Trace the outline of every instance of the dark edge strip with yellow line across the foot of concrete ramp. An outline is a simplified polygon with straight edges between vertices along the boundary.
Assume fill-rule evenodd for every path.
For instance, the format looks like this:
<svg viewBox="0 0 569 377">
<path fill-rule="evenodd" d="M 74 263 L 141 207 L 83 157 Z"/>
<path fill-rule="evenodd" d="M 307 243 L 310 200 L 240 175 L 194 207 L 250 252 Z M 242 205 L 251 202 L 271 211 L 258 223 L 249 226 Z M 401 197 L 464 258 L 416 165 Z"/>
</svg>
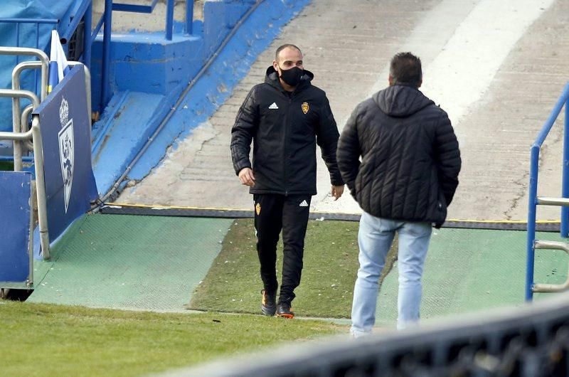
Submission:
<svg viewBox="0 0 569 377">
<path fill-rule="evenodd" d="M 253 218 L 253 211 L 232 210 L 223 208 L 180 208 L 161 206 L 125 206 L 108 204 L 100 207 L 100 213 L 109 215 L 139 215 L 139 216 L 176 216 L 176 217 L 206 217 L 206 218 Z M 324 213 L 311 212 L 310 219 L 317 221 L 359 221 L 356 213 Z M 519 221 L 468 221 L 448 220 L 442 228 L 484 229 L 484 230 L 526 230 L 527 224 Z M 539 232 L 558 232 L 560 223 L 547 221 L 538 222 Z"/>
</svg>

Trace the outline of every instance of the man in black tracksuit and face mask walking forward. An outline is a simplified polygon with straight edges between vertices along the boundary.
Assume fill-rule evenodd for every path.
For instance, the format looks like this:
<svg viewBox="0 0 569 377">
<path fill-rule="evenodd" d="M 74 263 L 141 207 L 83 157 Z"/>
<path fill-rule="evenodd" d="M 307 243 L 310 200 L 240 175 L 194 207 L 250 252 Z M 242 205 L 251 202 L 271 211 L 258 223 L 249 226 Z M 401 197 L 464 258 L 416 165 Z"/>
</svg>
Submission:
<svg viewBox="0 0 569 377">
<path fill-rule="evenodd" d="M 339 133 L 324 91 L 310 82 L 297 46 L 277 49 L 265 83 L 255 85 L 231 131 L 235 174 L 250 186 L 262 291 L 262 313 L 292 318 L 290 303 L 300 283 L 310 199 L 316 191 L 316 144 L 330 172 L 334 199 L 344 191 L 336 164 Z M 249 159 L 253 142 L 253 163 Z M 285 245 L 277 304 L 277 242 Z"/>
</svg>

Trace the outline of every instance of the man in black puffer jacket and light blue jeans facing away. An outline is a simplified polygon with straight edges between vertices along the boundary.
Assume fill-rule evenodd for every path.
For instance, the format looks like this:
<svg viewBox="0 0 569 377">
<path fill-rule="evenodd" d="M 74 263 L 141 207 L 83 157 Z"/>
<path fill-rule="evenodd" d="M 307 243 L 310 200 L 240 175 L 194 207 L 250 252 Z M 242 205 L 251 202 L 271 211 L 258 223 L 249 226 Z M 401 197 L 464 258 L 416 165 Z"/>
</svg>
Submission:
<svg viewBox="0 0 569 377">
<path fill-rule="evenodd" d="M 457 137 L 447 113 L 418 90 L 421 83 L 420 59 L 395 55 L 389 87 L 356 107 L 339 139 L 342 178 L 363 209 L 351 313 L 354 337 L 370 334 L 375 324 L 378 280 L 395 233 L 398 329 L 418 322 L 432 225 L 440 228 L 445 222 L 458 186 Z"/>
</svg>

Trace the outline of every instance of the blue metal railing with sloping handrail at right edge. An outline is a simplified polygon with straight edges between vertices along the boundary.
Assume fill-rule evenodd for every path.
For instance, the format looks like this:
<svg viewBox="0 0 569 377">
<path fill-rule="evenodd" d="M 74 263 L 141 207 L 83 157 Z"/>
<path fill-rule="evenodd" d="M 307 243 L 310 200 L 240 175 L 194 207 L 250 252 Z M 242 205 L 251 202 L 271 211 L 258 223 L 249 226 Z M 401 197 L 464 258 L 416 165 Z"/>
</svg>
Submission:
<svg viewBox="0 0 569 377">
<path fill-rule="evenodd" d="M 530 169 L 529 169 L 529 193 L 528 193 L 528 235 L 527 235 L 527 264 L 526 264 L 526 301 L 533 298 L 533 262 L 535 258 L 536 246 L 536 210 L 540 200 L 537 196 L 538 191 L 538 169 L 539 169 L 539 152 L 541 145 L 545 141 L 551 127 L 557 120 L 561 110 L 565 106 L 565 124 L 563 137 L 563 181 L 561 195 L 563 198 L 569 198 L 569 83 L 563 88 L 555 107 L 551 111 L 548 119 L 541 128 L 536 140 L 531 146 Z M 559 201 L 559 200 L 558 200 Z M 561 208 L 561 237 L 569 235 L 569 208 L 563 204 Z"/>
</svg>

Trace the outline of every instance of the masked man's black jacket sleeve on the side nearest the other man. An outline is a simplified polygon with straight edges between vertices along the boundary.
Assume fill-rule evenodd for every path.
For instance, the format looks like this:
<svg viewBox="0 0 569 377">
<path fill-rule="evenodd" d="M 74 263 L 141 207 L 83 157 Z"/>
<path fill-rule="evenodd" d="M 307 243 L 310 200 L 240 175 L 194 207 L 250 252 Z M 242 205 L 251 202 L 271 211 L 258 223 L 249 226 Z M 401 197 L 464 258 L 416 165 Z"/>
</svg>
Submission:
<svg viewBox="0 0 569 377">
<path fill-rule="evenodd" d="M 316 142 L 320 146 L 322 159 L 330 173 L 330 181 L 334 186 L 344 186 L 338 164 L 336 162 L 336 148 L 338 147 L 338 127 L 332 115 L 328 98 L 324 95 L 324 105 L 319 112 L 319 121 L 316 129 Z"/>
</svg>

